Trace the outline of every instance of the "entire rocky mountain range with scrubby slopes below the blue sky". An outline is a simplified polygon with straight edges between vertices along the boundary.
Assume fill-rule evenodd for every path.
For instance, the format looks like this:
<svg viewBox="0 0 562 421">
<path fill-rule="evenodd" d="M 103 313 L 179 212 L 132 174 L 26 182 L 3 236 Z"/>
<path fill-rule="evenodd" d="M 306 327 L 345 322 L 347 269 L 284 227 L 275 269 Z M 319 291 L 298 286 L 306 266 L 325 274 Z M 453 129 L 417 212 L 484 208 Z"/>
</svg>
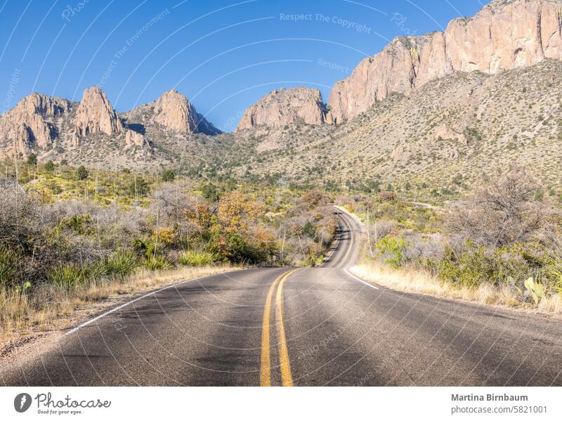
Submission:
<svg viewBox="0 0 562 421">
<path fill-rule="evenodd" d="M 495 0 L 443 33 L 395 39 L 328 105 L 318 89 L 275 90 L 222 134 L 175 90 L 124 113 L 98 88 L 80 103 L 33 93 L 0 117 L 0 153 L 436 191 L 516 164 L 562 189 L 561 60 L 562 0 Z"/>
</svg>

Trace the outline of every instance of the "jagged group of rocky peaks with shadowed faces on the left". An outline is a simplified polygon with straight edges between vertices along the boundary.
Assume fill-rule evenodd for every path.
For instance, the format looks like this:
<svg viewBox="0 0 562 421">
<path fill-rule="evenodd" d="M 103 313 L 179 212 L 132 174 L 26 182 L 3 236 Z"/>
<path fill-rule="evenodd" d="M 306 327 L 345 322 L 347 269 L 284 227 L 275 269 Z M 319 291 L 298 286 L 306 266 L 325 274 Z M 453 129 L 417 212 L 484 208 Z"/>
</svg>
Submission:
<svg viewBox="0 0 562 421">
<path fill-rule="evenodd" d="M 0 156 L 34 152 L 41 160 L 154 168 L 177 160 L 200 134 L 220 131 L 178 91 L 118 113 L 94 86 L 79 103 L 42 93 L 22 98 L 0 116 Z"/>
</svg>

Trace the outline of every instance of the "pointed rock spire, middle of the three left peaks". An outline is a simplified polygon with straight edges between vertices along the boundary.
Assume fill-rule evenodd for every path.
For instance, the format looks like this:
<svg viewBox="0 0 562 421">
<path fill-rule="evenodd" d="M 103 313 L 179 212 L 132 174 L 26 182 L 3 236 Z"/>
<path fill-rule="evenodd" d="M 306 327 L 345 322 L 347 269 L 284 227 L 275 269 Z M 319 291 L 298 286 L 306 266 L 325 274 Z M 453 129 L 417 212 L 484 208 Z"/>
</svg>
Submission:
<svg viewBox="0 0 562 421">
<path fill-rule="evenodd" d="M 113 109 L 105 93 L 98 86 L 93 86 L 84 91 L 73 124 L 79 136 L 96 132 L 113 134 L 123 131 L 121 119 L 117 116 L 117 112 Z"/>
</svg>

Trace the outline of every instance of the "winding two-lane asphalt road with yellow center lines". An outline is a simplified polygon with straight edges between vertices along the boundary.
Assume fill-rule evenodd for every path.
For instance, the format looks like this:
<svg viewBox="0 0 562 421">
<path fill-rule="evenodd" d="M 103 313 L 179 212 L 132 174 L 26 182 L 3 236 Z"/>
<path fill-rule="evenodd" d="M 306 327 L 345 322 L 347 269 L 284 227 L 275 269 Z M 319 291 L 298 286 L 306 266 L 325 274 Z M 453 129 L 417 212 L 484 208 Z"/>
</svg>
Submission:
<svg viewBox="0 0 562 421">
<path fill-rule="evenodd" d="M 74 328 L 6 385 L 562 385 L 562 323 L 354 278 L 360 226 L 339 213 L 315 268 L 191 280 Z"/>
</svg>

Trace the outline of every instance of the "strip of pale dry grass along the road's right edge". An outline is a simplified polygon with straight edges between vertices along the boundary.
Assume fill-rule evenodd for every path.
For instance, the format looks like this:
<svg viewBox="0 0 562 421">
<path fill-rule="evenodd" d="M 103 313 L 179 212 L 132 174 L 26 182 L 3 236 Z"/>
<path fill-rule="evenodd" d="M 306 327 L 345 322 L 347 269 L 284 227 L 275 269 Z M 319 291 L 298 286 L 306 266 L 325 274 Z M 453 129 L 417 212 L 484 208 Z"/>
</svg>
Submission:
<svg viewBox="0 0 562 421">
<path fill-rule="evenodd" d="M 377 263 L 362 263 L 351 268 L 351 272 L 364 280 L 377 283 L 393 290 L 416 292 L 449 299 L 462 299 L 478 304 L 499 304 L 502 306 L 532 309 L 532 304 L 521 302 L 516 293 L 507 285 L 495 287 L 483 284 L 477 289 L 468 287 L 454 287 L 442 283 L 431 273 L 417 271 L 412 268 L 394 270 Z M 556 294 L 542 299 L 537 307 L 541 313 L 562 315 L 562 297 Z"/>
</svg>

